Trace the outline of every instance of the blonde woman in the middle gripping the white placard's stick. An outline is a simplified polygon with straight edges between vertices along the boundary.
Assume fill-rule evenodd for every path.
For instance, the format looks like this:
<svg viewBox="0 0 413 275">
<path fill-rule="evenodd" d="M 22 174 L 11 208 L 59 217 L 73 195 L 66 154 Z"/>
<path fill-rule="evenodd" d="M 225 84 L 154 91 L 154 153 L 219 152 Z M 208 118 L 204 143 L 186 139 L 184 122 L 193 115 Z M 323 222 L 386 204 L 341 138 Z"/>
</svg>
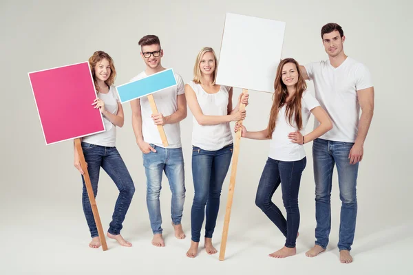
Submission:
<svg viewBox="0 0 413 275">
<path fill-rule="evenodd" d="M 222 184 L 233 153 L 233 137 L 229 122 L 244 120 L 240 102 L 248 104 L 248 96 L 238 98 L 233 108 L 232 87 L 215 84 L 217 58 L 211 47 L 199 52 L 193 69 L 193 81 L 185 85 L 185 96 L 193 114 L 192 176 L 195 196 L 191 208 L 190 258 L 198 254 L 200 232 L 204 217 L 205 249 L 208 254 L 217 250 L 212 245 Z"/>
</svg>

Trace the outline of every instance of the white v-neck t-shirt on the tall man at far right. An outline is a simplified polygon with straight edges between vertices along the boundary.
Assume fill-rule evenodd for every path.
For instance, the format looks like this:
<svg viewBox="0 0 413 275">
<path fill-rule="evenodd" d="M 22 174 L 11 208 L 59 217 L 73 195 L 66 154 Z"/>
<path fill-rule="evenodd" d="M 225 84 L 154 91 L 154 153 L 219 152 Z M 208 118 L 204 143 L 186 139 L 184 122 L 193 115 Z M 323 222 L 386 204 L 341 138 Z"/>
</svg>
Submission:
<svg viewBox="0 0 413 275">
<path fill-rule="evenodd" d="M 363 64 L 347 57 L 337 68 L 330 61 L 305 66 L 308 78 L 313 80 L 315 98 L 332 120 L 332 129 L 321 135 L 324 140 L 355 142 L 360 116 L 357 91 L 373 86 L 370 72 Z M 315 121 L 315 127 L 319 125 Z"/>
</svg>

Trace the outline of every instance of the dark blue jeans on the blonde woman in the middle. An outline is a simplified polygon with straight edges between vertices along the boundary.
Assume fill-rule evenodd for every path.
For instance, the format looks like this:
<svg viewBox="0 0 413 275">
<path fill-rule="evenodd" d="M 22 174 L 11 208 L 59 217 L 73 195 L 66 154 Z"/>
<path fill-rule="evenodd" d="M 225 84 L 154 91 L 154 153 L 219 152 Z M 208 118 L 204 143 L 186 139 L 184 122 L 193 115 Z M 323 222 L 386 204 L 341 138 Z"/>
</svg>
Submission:
<svg viewBox="0 0 413 275">
<path fill-rule="evenodd" d="M 232 153 L 233 144 L 217 151 L 206 151 L 193 146 L 192 177 L 195 195 L 191 208 L 191 239 L 196 243 L 200 241 L 205 212 L 205 237 L 212 238 L 220 209 L 222 184 L 231 163 Z"/>
</svg>

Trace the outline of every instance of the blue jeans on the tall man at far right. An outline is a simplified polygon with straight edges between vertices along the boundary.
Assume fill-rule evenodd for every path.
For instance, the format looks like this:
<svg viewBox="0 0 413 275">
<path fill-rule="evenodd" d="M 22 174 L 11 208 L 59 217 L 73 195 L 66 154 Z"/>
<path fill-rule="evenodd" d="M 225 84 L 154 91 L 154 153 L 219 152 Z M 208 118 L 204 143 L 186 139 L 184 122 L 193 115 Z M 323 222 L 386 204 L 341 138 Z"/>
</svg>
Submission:
<svg viewBox="0 0 413 275">
<path fill-rule="evenodd" d="M 348 155 L 354 143 L 317 139 L 313 143 L 315 177 L 315 244 L 326 248 L 331 229 L 332 171 L 337 164 L 341 199 L 339 250 L 351 250 L 357 217 L 357 173 L 359 163 L 350 164 Z"/>
</svg>

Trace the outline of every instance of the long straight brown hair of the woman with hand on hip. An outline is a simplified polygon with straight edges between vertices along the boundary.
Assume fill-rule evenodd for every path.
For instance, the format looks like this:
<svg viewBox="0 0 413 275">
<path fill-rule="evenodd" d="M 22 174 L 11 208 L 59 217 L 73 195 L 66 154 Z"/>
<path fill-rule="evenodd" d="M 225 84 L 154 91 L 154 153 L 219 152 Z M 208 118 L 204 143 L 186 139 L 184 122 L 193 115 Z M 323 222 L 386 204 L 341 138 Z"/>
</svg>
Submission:
<svg viewBox="0 0 413 275">
<path fill-rule="evenodd" d="M 298 73 L 298 81 L 295 84 L 295 93 L 293 94 L 291 99 L 288 100 L 288 102 L 286 102 L 286 99 L 288 98 L 287 87 L 282 82 L 282 68 L 287 63 L 295 64 L 295 67 L 297 67 L 297 73 Z M 268 122 L 268 127 L 267 127 L 268 138 L 271 139 L 273 135 L 279 110 L 284 106 L 284 104 L 286 104 L 286 121 L 290 125 L 293 125 L 293 121 L 294 121 L 298 130 L 301 130 L 301 128 L 303 127 L 303 120 L 302 120 L 302 115 L 301 115 L 301 96 L 303 95 L 303 92 L 306 89 L 307 89 L 306 80 L 304 80 L 303 76 L 301 75 L 298 62 L 295 61 L 295 59 L 293 58 L 283 59 L 278 65 L 277 75 L 275 76 L 275 81 L 274 81 L 275 92 L 273 94 L 273 106 L 271 107 L 270 120 Z"/>
</svg>

